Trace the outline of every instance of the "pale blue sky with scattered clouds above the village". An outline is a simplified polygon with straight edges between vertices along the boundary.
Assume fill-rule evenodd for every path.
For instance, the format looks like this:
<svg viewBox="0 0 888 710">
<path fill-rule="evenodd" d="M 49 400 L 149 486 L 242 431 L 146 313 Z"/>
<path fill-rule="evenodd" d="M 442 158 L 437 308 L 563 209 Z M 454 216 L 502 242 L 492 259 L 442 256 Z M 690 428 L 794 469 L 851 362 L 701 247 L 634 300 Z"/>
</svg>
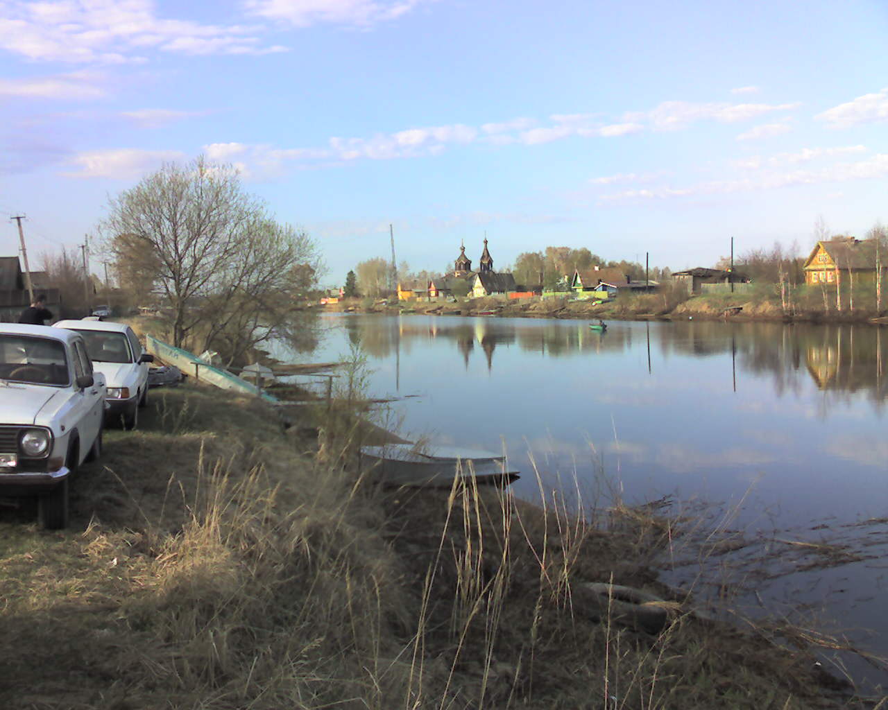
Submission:
<svg viewBox="0 0 888 710">
<path fill-rule="evenodd" d="M 888 221 L 886 37 L 861 0 L 0 0 L 0 217 L 39 260 L 205 154 L 312 234 L 329 284 L 389 224 L 429 270 L 485 232 L 497 268 L 804 249 L 818 216 Z"/>
</svg>

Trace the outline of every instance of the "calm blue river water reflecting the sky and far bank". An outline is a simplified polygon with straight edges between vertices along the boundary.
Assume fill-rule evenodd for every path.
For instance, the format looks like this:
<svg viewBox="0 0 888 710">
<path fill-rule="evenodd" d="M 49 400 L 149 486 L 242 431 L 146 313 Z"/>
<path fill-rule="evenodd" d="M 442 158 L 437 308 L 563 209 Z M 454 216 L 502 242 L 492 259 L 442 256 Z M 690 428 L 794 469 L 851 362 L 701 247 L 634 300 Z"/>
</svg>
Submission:
<svg viewBox="0 0 888 710">
<path fill-rule="evenodd" d="M 611 321 L 599 334 L 583 320 L 323 319 L 312 359 L 360 344 L 373 396 L 411 396 L 392 404 L 402 431 L 504 448 L 525 472 L 532 455 L 548 483 L 575 475 L 587 498 L 602 491 L 602 472 L 629 502 L 730 506 L 746 496 L 734 526 L 795 540 L 820 539 L 823 523 L 852 531 L 888 517 L 888 330 Z M 515 490 L 538 499 L 533 476 Z M 875 628 L 853 636 L 885 653 L 884 572 L 884 559 L 868 559 L 757 591 L 768 604 L 816 600 L 843 627 Z"/>
</svg>

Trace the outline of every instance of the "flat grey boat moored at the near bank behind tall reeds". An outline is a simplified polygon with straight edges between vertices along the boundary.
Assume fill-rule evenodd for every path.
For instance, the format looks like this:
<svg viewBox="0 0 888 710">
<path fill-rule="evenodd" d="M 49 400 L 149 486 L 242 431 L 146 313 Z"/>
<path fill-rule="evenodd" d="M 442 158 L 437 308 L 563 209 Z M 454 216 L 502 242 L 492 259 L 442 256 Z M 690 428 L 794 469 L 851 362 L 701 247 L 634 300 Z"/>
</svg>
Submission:
<svg viewBox="0 0 888 710">
<path fill-rule="evenodd" d="M 386 485 L 449 488 L 455 479 L 478 485 L 508 485 L 519 477 L 505 456 L 488 451 L 416 444 L 362 446 L 361 469 Z"/>
</svg>

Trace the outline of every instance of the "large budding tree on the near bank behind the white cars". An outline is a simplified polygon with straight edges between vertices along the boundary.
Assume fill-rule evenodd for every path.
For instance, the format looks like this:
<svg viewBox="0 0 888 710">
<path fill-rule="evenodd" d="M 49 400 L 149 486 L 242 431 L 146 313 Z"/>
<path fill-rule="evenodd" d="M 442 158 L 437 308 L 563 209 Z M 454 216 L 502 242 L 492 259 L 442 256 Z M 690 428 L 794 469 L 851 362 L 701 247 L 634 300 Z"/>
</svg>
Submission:
<svg viewBox="0 0 888 710">
<path fill-rule="evenodd" d="M 286 310 L 275 304 L 311 286 L 320 267 L 305 233 L 276 224 L 233 168 L 202 157 L 164 165 L 112 198 L 102 227 L 118 272 L 153 273 L 176 346 L 199 324 L 204 345 L 245 328 L 235 347 L 242 353 L 241 339 L 273 328 Z"/>
</svg>

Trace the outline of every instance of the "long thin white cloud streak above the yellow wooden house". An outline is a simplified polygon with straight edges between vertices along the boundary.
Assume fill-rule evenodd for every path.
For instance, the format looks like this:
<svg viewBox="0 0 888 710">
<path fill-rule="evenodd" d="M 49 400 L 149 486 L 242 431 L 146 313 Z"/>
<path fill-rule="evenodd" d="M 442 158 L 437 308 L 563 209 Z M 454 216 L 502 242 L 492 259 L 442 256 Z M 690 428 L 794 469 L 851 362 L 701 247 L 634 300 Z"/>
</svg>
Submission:
<svg viewBox="0 0 888 710">
<path fill-rule="evenodd" d="M 792 170 L 768 172 L 756 177 L 737 180 L 713 180 L 687 187 L 655 187 L 646 190 L 627 190 L 599 197 L 601 202 L 625 202 L 697 195 L 746 193 L 773 190 L 796 185 L 819 185 L 888 176 L 888 154 L 876 154 L 864 161 L 841 162 L 820 170 Z"/>
</svg>

